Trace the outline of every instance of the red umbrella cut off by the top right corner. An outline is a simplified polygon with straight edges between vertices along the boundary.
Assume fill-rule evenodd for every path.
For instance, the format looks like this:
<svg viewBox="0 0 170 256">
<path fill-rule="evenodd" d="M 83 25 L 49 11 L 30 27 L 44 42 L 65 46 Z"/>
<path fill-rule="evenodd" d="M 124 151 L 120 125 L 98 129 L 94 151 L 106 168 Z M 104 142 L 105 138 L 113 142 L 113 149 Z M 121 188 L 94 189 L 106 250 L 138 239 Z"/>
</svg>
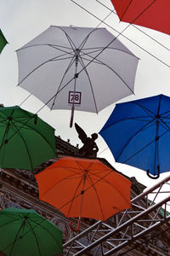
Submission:
<svg viewBox="0 0 170 256">
<path fill-rule="evenodd" d="M 121 21 L 170 34 L 169 0 L 111 0 Z"/>
</svg>

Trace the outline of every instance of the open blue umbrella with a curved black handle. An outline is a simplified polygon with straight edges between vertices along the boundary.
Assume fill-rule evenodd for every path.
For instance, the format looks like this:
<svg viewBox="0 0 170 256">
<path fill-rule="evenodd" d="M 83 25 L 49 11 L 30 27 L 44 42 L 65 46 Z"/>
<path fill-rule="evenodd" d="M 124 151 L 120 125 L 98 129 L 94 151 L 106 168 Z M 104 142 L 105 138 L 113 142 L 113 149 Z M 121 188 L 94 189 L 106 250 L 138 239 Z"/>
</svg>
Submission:
<svg viewBox="0 0 170 256">
<path fill-rule="evenodd" d="M 99 134 L 115 160 L 157 178 L 170 171 L 170 97 L 116 104 Z"/>
</svg>

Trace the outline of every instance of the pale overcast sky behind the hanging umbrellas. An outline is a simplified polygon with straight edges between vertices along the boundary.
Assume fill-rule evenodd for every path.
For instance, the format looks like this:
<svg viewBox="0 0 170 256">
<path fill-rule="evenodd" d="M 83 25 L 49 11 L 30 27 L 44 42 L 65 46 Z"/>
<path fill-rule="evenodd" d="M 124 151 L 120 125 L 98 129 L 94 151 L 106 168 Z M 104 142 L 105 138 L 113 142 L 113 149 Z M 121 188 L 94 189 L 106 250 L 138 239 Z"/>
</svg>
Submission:
<svg viewBox="0 0 170 256">
<path fill-rule="evenodd" d="M 101 20 L 104 20 L 105 17 L 111 13 L 110 10 L 105 9 L 105 7 L 96 0 L 75 0 L 75 2 L 80 4 L 83 8 L 88 9 Z M 100 0 L 100 2 L 105 3 L 107 7 L 113 9 L 111 0 Z M 8 44 L 0 55 L 0 102 L 3 102 L 5 106 L 20 105 L 29 93 L 20 87 L 16 87 L 18 83 L 18 61 L 15 50 L 28 43 L 32 38 L 35 38 L 51 25 L 95 27 L 99 26 L 100 22 L 71 0 L 1 0 L 0 4 L 0 28 L 8 40 Z M 120 23 L 115 14 L 109 15 L 105 22 L 119 32 L 122 32 L 124 27 L 127 26 L 126 23 Z M 104 24 L 100 26 L 106 27 L 114 36 L 117 36 L 117 33 L 114 32 L 111 27 Z M 143 27 L 139 28 L 161 44 L 166 45 L 167 48 L 170 48 L 169 35 Z M 139 44 L 140 47 L 167 63 L 167 66 L 157 61 L 156 58 L 150 56 L 143 49 L 139 49 L 139 47 L 129 42 L 126 38 L 119 36 L 118 38 L 122 43 L 140 59 L 135 80 L 135 96 L 128 96 L 120 102 L 155 96 L 161 93 L 170 96 L 169 50 L 164 49 L 161 45 L 144 36 L 142 32 L 139 32 L 133 26 L 128 27 L 127 30 L 123 32 L 123 35 L 126 35 L 127 38 Z M 32 113 L 37 113 L 42 106 L 42 102 L 38 101 L 34 96 L 31 96 L 21 105 L 21 108 L 25 108 Z M 82 126 L 84 131 L 90 136 L 92 133 L 100 131 L 105 121 L 110 116 L 114 106 L 113 104 L 105 108 L 99 114 L 75 112 L 74 121 Z M 71 144 L 73 145 L 77 145 L 77 143 L 81 145 L 77 137 L 77 131 L 74 127 L 69 127 L 70 114 L 71 113 L 66 110 L 50 111 L 47 107 L 42 108 L 38 113 L 42 119 L 56 129 L 57 136 L 59 135 L 64 140 L 70 138 Z M 104 140 L 100 136 L 96 143 L 99 145 L 99 153 L 107 148 Z M 111 165 L 115 166 L 118 171 L 125 173 L 129 177 L 136 177 L 140 183 L 144 183 L 146 186 L 158 182 L 158 180 L 153 181 L 147 177 L 144 171 L 118 163 L 115 164 L 109 148 L 102 154 L 99 154 L 99 157 L 104 157 Z M 169 173 L 162 174 L 161 178 L 167 175 L 169 175 Z"/>
</svg>

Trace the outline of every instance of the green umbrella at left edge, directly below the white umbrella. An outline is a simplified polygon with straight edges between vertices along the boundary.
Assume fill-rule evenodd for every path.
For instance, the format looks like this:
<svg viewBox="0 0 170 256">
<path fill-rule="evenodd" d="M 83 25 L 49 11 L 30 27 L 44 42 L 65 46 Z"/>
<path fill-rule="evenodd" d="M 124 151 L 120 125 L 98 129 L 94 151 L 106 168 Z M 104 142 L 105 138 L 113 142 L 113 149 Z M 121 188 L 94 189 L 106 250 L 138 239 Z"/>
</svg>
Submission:
<svg viewBox="0 0 170 256">
<path fill-rule="evenodd" d="M 0 108 L 0 166 L 33 170 L 56 156 L 54 128 L 19 106 Z"/>
</svg>

